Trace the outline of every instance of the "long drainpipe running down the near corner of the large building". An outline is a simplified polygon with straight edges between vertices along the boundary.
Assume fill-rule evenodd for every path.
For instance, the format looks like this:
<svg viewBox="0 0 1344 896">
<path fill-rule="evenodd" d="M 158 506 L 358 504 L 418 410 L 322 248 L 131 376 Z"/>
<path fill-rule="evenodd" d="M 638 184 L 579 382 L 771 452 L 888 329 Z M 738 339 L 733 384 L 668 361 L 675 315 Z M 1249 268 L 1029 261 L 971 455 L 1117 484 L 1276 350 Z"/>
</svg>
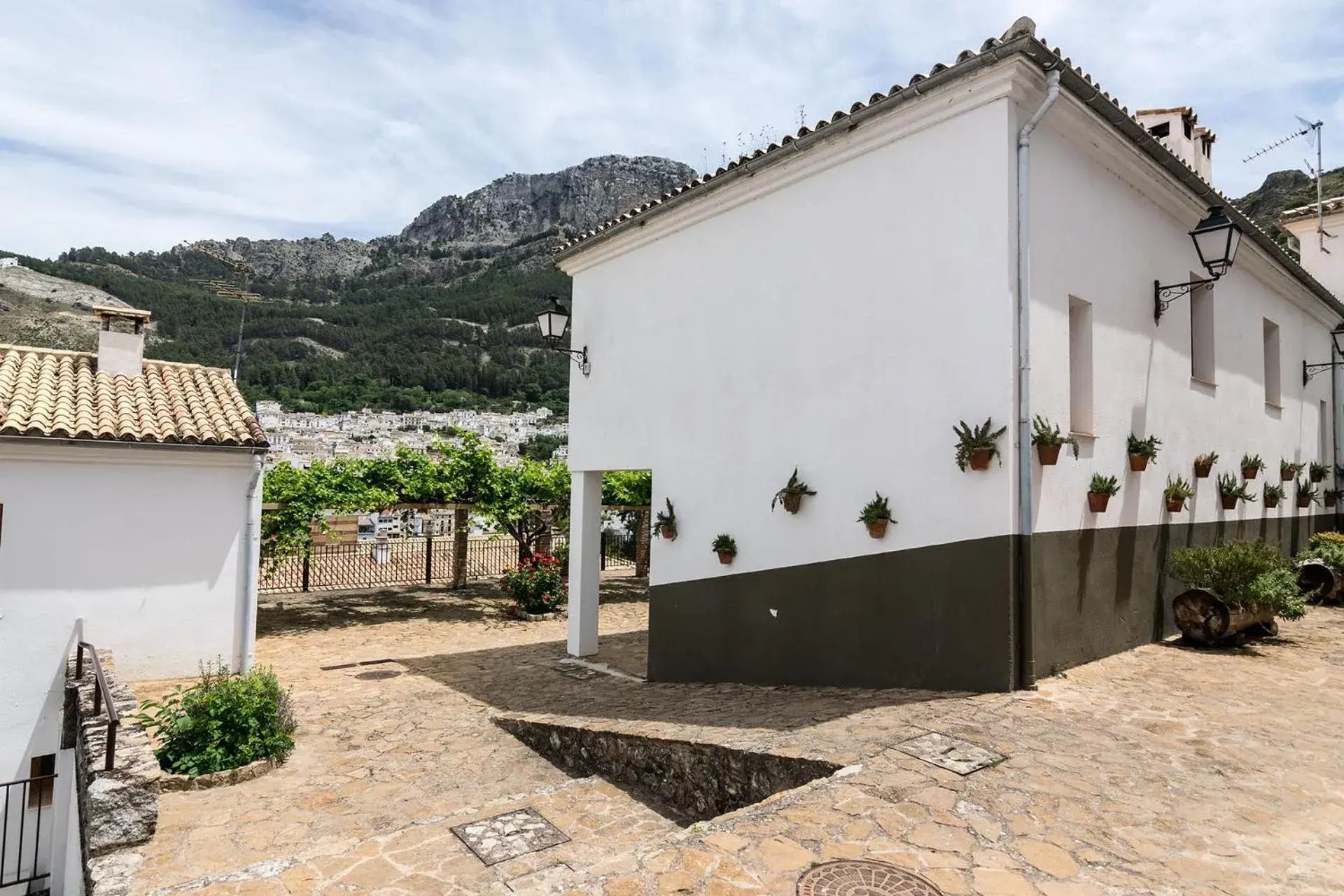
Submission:
<svg viewBox="0 0 1344 896">
<path fill-rule="evenodd" d="M 1046 98 L 1017 132 L 1017 681 L 1036 686 L 1036 647 L 1031 596 L 1031 132 L 1059 99 L 1059 69 L 1046 73 Z"/>
</svg>

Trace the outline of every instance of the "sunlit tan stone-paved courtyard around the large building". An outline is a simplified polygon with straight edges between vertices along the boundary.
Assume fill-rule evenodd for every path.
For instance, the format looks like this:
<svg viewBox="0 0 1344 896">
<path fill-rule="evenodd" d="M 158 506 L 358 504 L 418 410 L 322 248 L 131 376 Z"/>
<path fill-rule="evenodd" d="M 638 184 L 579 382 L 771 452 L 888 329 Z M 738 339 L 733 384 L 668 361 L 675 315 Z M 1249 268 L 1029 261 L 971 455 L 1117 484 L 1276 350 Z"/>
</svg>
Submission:
<svg viewBox="0 0 1344 896">
<path fill-rule="evenodd" d="M 573 674 L 563 619 L 507 619 L 489 588 L 270 600 L 258 661 L 293 685 L 296 752 L 164 794 L 136 892 L 784 896 L 852 857 L 949 895 L 1344 893 L 1344 610 L 1241 650 L 1150 645 L 1035 693 L 942 695 L 646 684 L 642 582 L 602 588 L 595 662 L 616 674 Z M 372 660 L 392 662 L 320 668 Z M 845 768 L 681 827 L 497 716 Z M 896 748 L 929 732 L 1007 759 L 961 776 Z M 485 865 L 453 833 L 524 809 L 569 840 Z"/>
</svg>

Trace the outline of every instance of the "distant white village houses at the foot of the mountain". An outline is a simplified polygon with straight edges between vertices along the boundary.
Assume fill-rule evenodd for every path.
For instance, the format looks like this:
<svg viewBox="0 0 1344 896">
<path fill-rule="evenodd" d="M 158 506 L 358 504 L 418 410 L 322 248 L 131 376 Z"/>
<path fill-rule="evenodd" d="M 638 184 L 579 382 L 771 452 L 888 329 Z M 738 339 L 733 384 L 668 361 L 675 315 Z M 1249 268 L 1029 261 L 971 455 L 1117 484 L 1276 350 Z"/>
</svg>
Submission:
<svg viewBox="0 0 1344 896">
<path fill-rule="evenodd" d="M 257 402 L 257 420 L 266 430 L 271 451 L 267 465 L 289 462 L 306 467 L 313 461 L 336 458 L 388 457 L 398 447 L 427 451 L 434 442 L 458 443 L 466 433 L 481 437 L 496 462 L 519 461 L 519 446 L 538 435 L 569 438 L 569 423 L 548 422 L 551 410 L 497 414 L 487 411 L 345 411 L 312 414 L 285 411 L 280 402 Z M 555 458 L 563 459 L 569 446 L 560 445 Z"/>
</svg>

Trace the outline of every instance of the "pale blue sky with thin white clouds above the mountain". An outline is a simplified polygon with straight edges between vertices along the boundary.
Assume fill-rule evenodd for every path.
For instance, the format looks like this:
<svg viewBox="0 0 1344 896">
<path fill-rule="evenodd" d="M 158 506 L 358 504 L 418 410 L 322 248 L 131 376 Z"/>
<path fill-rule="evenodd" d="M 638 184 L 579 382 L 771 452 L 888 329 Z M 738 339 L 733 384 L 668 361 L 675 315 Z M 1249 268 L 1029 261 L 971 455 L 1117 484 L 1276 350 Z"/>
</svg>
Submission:
<svg viewBox="0 0 1344 896">
<path fill-rule="evenodd" d="M 116 9 L 116 12 L 109 12 Z M 0 247 L 370 238 L 589 156 L 716 167 L 1031 15 L 1130 109 L 1191 105 L 1230 195 L 1344 164 L 1344 4 L 24 0 L 0 27 Z"/>
</svg>

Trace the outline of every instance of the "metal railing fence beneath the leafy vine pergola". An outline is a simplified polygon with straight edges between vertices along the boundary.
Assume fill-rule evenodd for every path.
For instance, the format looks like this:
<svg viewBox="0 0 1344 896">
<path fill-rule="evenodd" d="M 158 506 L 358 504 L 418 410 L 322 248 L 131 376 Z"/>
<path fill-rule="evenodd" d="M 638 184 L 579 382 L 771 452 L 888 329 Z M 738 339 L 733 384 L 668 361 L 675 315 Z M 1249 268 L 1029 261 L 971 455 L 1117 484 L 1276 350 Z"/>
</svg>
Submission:
<svg viewBox="0 0 1344 896">
<path fill-rule="evenodd" d="M 634 535 L 602 533 L 602 568 L 634 566 Z M 280 562 L 262 560 L 261 594 L 292 591 L 343 591 L 406 584 L 453 584 L 468 579 L 493 579 L 517 566 L 517 541 L 511 537 L 473 536 L 466 541 L 465 575 L 458 576 L 454 537 L 387 539 L 313 544 L 300 555 Z M 551 536 L 551 551 L 566 543 Z"/>
</svg>

